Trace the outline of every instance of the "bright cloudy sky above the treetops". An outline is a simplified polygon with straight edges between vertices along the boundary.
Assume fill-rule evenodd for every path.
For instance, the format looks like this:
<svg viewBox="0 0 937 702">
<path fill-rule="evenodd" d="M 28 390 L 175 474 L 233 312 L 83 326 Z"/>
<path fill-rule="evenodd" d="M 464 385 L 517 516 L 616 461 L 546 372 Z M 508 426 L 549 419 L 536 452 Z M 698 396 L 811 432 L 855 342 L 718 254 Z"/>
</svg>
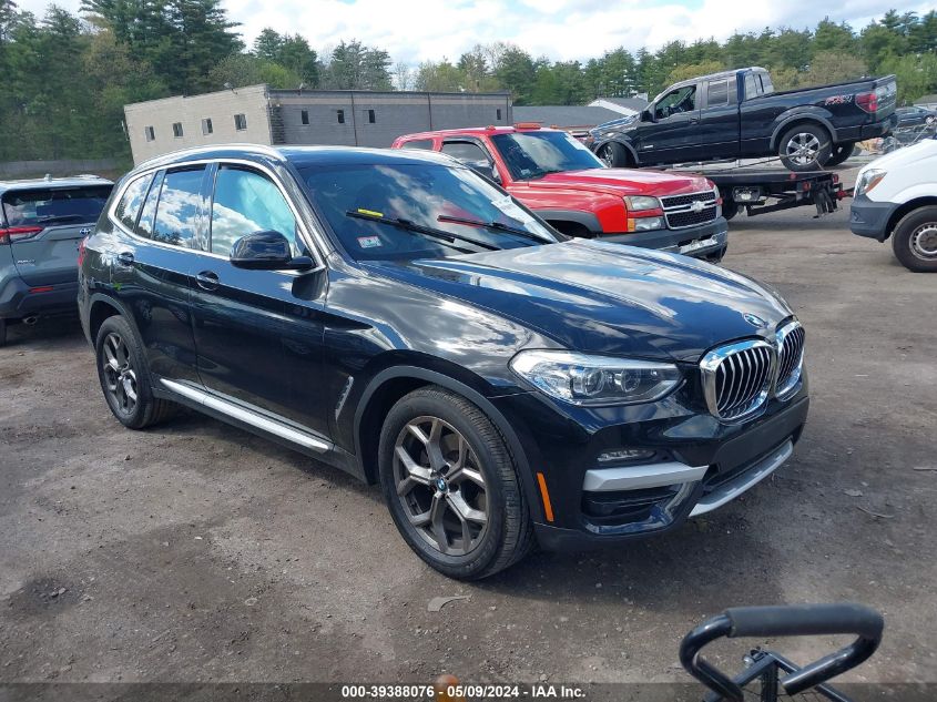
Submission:
<svg viewBox="0 0 937 702">
<path fill-rule="evenodd" d="M 47 0 L 16 0 L 41 16 Z M 59 0 L 77 11 L 81 0 Z M 935 0 L 223 0 L 249 45 L 264 27 L 301 33 L 317 51 L 342 39 L 386 49 L 395 61 L 457 59 L 476 43 L 510 41 L 534 57 L 589 59 L 672 40 L 723 40 L 735 30 L 813 28 L 825 16 L 855 28 L 888 9 L 927 12 Z M 902 7 L 904 6 L 904 7 Z"/>
</svg>

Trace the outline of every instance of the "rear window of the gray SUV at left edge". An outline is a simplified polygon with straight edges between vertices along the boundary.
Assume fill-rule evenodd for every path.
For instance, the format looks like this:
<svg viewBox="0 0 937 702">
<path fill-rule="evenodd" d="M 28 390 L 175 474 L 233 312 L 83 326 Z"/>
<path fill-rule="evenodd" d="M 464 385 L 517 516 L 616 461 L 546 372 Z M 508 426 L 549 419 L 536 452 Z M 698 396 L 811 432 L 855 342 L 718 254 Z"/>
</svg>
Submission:
<svg viewBox="0 0 937 702">
<path fill-rule="evenodd" d="M 110 194 L 110 185 L 9 191 L 3 214 L 9 226 L 96 222 Z"/>
</svg>

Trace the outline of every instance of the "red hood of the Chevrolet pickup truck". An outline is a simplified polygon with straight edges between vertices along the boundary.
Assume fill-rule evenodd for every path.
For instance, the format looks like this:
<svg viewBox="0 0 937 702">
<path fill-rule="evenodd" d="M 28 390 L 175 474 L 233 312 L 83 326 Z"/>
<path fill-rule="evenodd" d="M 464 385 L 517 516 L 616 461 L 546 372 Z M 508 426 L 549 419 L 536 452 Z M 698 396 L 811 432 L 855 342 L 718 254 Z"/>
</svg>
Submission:
<svg viewBox="0 0 937 702">
<path fill-rule="evenodd" d="M 702 175 L 668 173 L 665 171 L 635 171 L 632 169 L 587 169 L 550 173 L 530 182 L 531 186 L 560 186 L 563 189 L 611 192 L 624 195 L 685 195 L 712 190 Z"/>
</svg>

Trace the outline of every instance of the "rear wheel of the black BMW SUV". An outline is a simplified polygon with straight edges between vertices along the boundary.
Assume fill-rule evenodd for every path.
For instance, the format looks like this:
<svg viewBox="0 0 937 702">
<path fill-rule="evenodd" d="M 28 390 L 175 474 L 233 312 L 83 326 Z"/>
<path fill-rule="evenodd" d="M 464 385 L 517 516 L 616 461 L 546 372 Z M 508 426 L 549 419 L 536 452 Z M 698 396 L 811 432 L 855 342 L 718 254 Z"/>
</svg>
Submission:
<svg viewBox="0 0 937 702">
<path fill-rule="evenodd" d="M 119 315 L 104 319 L 94 356 L 104 399 L 123 426 L 143 429 L 175 414 L 176 405 L 153 396 L 146 357 L 126 319 Z"/>
</svg>

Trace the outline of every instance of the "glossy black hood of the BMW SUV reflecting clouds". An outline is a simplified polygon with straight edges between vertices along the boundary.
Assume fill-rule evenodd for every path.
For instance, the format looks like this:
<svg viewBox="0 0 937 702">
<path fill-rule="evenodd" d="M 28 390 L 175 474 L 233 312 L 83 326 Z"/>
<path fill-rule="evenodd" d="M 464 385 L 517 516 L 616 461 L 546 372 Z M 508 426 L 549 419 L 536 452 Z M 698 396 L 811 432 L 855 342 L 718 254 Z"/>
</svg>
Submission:
<svg viewBox="0 0 937 702">
<path fill-rule="evenodd" d="M 597 354 L 695 362 L 726 342 L 771 338 L 791 316 L 775 293 L 725 268 L 588 240 L 374 265 Z"/>
</svg>

